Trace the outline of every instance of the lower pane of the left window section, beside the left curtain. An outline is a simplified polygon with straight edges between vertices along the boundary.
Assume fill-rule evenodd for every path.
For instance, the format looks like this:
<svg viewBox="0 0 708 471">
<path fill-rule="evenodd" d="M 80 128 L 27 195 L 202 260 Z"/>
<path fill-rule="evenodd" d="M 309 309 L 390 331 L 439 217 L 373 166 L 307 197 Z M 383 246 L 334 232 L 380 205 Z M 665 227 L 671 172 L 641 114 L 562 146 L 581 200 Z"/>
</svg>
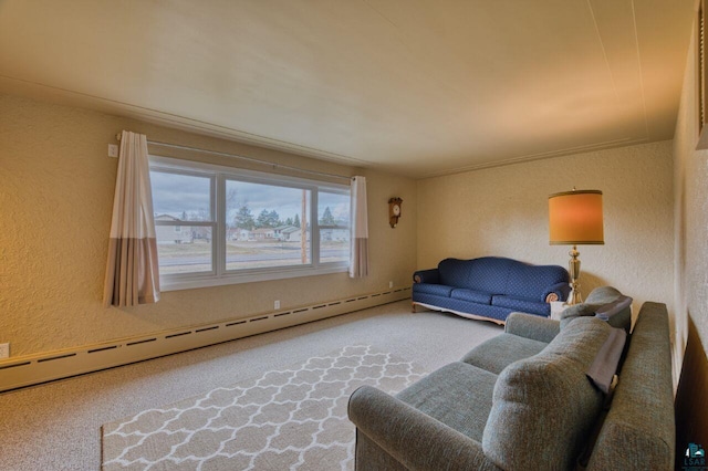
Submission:
<svg viewBox="0 0 708 471">
<path fill-rule="evenodd" d="M 179 228 L 179 232 L 177 231 Z M 157 226 L 157 257 L 160 274 L 210 272 L 211 228 Z"/>
</svg>

